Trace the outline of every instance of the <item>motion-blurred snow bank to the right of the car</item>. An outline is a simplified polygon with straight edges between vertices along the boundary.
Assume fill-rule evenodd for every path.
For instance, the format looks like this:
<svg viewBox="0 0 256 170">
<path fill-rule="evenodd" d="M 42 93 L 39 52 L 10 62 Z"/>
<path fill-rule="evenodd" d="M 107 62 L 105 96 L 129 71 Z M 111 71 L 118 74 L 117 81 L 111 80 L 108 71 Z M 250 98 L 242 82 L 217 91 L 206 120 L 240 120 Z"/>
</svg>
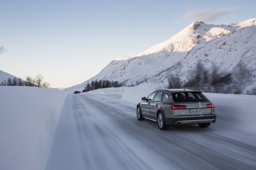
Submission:
<svg viewBox="0 0 256 170">
<path fill-rule="evenodd" d="M 217 121 L 224 121 L 227 125 L 226 128 L 256 134 L 255 95 L 204 94 L 215 105 Z M 224 117 L 228 117 L 229 120 L 223 120 Z"/>
</svg>

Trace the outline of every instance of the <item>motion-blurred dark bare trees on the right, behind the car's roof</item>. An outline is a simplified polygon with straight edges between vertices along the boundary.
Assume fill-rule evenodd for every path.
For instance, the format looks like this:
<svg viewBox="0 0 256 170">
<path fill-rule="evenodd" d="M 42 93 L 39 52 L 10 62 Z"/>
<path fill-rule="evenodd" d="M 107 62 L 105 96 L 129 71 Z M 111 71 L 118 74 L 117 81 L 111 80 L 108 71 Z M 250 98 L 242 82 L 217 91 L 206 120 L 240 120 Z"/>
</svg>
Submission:
<svg viewBox="0 0 256 170">
<path fill-rule="evenodd" d="M 183 88 L 194 87 L 204 92 L 226 93 L 226 94 L 242 94 L 244 84 L 246 84 L 245 77 L 250 75 L 250 70 L 241 69 L 233 75 L 230 72 L 218 72 L 218 68 L 213 66 L 212 71 L 208 71 L 198 62 L 197 67 L 191 70 L 186 81 L 181 81 L 179 75 L 169 75 L 168 88 Z M 234 79 L 233 76 L 237 79 Z M 256 95 L 256 88 L 247 91 L 248 95 Z"/>
</svg>

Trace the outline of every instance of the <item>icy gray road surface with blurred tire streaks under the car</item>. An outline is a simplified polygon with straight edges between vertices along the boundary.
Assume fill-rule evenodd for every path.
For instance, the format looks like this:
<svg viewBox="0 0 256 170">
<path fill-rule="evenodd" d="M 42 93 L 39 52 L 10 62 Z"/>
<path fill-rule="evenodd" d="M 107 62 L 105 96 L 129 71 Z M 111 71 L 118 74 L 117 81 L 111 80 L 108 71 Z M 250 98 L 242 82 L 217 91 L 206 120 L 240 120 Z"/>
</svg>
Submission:
<svg viewBox="0 0 256 170">
<path fill-rule="evenodd" d="M 205 129 L 182 125 L 160 131 L 156 122 L 138 121 L 136 105 L 119 98 L 69 95 L 45 169 L 256 168 L 255 134 L 237 133 L 226 124 L 229 115 L 218 114 Z"/>
</svg>

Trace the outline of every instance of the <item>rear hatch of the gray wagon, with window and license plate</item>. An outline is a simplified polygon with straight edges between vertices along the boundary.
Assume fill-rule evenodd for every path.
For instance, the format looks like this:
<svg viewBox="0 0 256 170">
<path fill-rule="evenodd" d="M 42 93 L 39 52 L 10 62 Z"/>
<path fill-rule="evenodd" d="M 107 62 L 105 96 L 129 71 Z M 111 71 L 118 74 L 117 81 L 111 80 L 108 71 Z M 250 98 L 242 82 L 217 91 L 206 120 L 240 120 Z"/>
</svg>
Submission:
<svg viewBox="0 0 256 170">
<path fill-rule="evenodd" d="M 177 92 L 173 95 L 177 105 L 172 109 L 179 109 L 181 115 L 211 114 L 213 103 L 209 101 L 200 91 Z"/>
</svg>

